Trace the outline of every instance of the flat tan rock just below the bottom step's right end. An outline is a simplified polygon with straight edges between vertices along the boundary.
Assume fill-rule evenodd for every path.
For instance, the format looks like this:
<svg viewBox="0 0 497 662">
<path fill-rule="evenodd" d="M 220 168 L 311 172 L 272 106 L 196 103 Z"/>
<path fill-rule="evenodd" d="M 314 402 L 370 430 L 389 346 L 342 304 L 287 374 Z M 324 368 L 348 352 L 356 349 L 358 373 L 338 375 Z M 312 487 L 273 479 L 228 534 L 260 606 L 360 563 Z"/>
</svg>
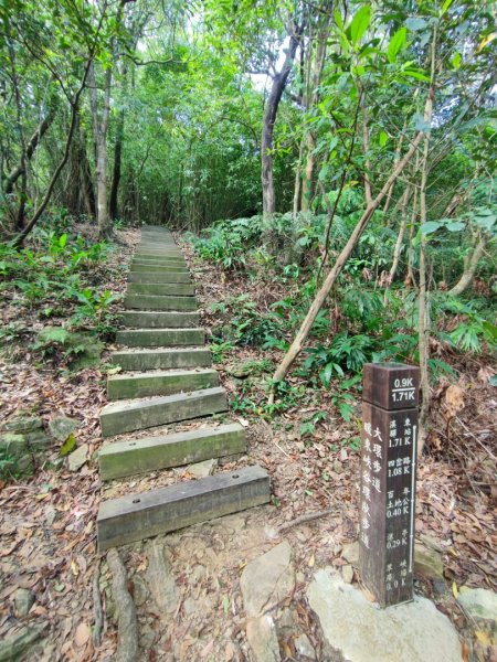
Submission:
<svg viewBox="0 0 497 662">
<path fill-rule="evenodd" d="M 285 541 L 244 568 L 240 587 L 247 616 L 264 613 L 288 596 L 294 586 L 292 548 Z"/>
</svg>

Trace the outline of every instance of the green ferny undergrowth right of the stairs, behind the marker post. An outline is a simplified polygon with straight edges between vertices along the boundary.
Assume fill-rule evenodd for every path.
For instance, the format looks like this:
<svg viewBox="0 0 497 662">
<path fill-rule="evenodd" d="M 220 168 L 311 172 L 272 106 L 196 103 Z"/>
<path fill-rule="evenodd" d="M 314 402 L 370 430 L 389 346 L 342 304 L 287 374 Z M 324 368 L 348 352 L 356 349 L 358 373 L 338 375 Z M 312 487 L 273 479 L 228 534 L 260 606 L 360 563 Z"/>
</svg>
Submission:
<svg viewBox="0 0 497 662">
<path fill-rule="evenodd" d="M 356 216 L 349 197 L 331 227 L 328 264 L 348 238 Z M 268 355 L 260 371 L 265 374 L 264 387 L 261 389 L 261 380 L 258 394 L 250 383 L 242 387 L 242 395 L 232 402 L 235 409 L 271 416 L 303 398 L 316 403 L 319 392 L 326 392 L 332 406 L 350 421 L 366 362 L 419 361 L 417 291 L 410 276 L 417 266 L 415 252 L 408 255 L 404 249 L 396 279 L 389 286 L 396 235 L 379 214 L 320 310 L 292 377 L 276 385 L 276 403 L 266 404 L 275 360 L 288 348 L 327 271 L 321 264 L 326 225 L 325 215 L 284 214 L 271 222 L 255 216 L 220 221 L 200 237 L 189 237 L 201 258 L 246 278 L 252 292 L 214 303 L 211 311 L 216 319 L 211 341 L 218 361 L 241 345 L 258 348 Z M 457 380 L 468 356 L 488 356 L 497 342 L 491 250 L 465 296 L 447 291 L 462 271 L 465 255 L 463 224 L 457 229 L 456 234 L 442 228 L 429 242 L 432 385 L 441 378 Z M 277 350 L 274 356 L 272 350 Z M 305 429 L 311 431 L 324 416 L 314 413 Z"/>
</svg>

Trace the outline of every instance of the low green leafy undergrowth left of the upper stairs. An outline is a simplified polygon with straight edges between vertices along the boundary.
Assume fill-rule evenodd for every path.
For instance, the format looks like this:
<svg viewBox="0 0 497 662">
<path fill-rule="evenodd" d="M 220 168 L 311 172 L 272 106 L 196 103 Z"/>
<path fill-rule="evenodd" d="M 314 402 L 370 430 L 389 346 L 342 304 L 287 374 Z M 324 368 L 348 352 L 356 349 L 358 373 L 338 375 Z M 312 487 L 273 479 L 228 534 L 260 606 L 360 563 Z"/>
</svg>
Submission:
<svg viewBox="0 0 497 662">
<path fill-rule="evenodd" d="M 113 338 L 120 296 L 106 288 L 102 273 L 115 248 L 82 228 L 61 213 L 25 247 L 0 246 L 2 350 L 21 344 L 40 360 L 81 366 L 91 362 L 95 343 Z"/>
</svg>

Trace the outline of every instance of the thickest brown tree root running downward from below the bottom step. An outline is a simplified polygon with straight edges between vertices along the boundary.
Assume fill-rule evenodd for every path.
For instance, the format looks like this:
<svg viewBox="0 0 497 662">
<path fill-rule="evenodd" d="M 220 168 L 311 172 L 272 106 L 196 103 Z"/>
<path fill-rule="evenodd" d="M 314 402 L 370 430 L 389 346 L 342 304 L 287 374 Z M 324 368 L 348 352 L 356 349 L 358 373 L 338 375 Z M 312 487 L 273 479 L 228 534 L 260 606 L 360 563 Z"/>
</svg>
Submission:
<svg viewBox="0 0 497 662">
<path fill-rule="evenodd" d="M 107 554 L 113 575 L 113 598 L 117 613 L 116 662 L 136 662 L 138 659 L 138 623 L 135 602 L 128 592 L 126 568 L 117 549 Z"/>
</svg>

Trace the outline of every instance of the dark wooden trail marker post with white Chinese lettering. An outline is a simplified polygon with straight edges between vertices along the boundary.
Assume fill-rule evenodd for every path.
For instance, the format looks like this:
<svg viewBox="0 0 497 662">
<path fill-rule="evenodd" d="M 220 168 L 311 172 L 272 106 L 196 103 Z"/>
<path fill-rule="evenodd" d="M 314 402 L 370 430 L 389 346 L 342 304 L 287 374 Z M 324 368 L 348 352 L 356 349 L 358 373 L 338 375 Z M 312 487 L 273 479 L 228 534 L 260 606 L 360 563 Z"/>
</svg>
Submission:
<svg viewBox="0 0 497 662">
<path fill-rule="evenodd" d="M 420 369 L 363 370 L 359 558 L 381 607 L 413 598 Z"/>
</svg>

